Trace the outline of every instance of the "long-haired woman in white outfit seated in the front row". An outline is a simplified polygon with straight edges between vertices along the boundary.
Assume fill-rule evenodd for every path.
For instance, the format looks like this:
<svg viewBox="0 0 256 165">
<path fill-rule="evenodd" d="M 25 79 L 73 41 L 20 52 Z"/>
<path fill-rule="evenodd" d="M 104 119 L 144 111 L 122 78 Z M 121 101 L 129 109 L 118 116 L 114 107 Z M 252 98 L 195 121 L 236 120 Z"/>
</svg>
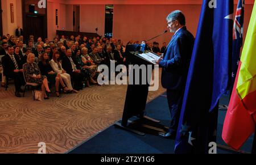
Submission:
<svg viewBox="0 0 256 165">
<path fill-rule="evenodd" d="M 71 77 L 69 74 L 66 73 L 66 71 L 62 68 L 61 66 L 61 61 L 60 61 L 60 54 L 59 52 L 56 52 L 53 54 L 52 56 L 52 60 L 49 62 L 53 71 L 55 71 L 55 73 L 59 73 L 61 78 L 63 79 L 63 81 L 65 82 L 65 84 L 68 87 L 68 91 L 64 90 L 64 92 L 73 92 L 73 93 L 77 93 L 76 90 L 73 89 L 72 87 L 72 83 L 71 83 Z"/>
</svg>

